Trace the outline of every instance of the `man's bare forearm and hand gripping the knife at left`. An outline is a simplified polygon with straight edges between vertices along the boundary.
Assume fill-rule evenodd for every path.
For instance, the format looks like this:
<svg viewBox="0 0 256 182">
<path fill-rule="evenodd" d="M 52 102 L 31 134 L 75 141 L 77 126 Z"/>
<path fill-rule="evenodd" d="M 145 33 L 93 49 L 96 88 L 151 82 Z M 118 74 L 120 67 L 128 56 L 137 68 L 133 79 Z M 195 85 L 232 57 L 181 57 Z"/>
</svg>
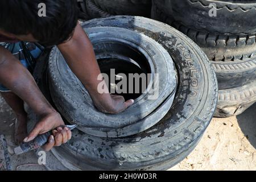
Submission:
<svg viewBox="0 0 256 182">
<path fill-rule="evenodd" d="M 0 46 L 0 82 L 22 98 L 40 118 L 38 124 L 24 140 L 25 142 L 34 139 L 38 134 L 46 133 L 64 125 L 60 114 L 53 109 L 42 92 L 40 92 L 30 72 L 2 46 Z M 49 138 L 49 140 L 52 138 Z M 47 144 L 46 148 L 49 150 L 54 145 L 59 146 L 61 143 L 67 142 L 70 138 L 71 131 L 65 133 L 60 131 Z"/>
</svg>

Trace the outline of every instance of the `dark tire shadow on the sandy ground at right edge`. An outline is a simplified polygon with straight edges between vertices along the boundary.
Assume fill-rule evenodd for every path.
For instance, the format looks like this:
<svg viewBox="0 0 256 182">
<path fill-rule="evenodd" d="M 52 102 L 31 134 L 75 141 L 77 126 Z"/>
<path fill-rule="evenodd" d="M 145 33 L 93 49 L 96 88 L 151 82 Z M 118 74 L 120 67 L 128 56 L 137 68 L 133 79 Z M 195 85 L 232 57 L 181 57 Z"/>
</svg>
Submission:
<svg viewBox="0 0 256 182">
<path fill-rule="evenodd" d="M 243 134 L 256 149 L 256 103 L 238 115 L 237 122 Z"/>
</svg>

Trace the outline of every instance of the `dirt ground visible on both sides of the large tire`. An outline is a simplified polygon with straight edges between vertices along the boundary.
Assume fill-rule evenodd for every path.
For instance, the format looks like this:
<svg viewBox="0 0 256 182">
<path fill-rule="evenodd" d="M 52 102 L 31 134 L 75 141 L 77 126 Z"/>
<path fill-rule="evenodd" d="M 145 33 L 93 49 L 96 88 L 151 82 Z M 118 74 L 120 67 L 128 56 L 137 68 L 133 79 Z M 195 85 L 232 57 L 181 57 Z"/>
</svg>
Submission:
<svg viewBox="0 0 256 182">
<path fill-rule="evenodd" d="M 0 135 L 9 145 L 13 170 L 47 170 L 34 152 L 14 155 L 14 122 L 13 112 L 0 97 Z M 3 166 L 0 155 L 0 170 Z M 256 104 L 238 117 L 214 118 L 195 150 L 170 170 L 256 170 Z"/>
</svg>

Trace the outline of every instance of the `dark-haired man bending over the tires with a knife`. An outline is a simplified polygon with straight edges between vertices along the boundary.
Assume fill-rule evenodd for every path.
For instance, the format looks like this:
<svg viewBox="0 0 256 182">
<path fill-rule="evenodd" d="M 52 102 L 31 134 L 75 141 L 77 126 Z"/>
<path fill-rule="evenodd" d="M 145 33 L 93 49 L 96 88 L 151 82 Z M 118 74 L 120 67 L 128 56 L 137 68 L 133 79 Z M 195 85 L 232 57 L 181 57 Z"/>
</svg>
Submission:
<svg viewBox="0 0 256 182">
<path fill-rule="evenodd" d="M 38 5 L 46 5 L 46 16 L 38 16 Z M 97 80 L 100 69 L 92 44 L 77 23 L 76 0 L 1 0 L 0 42 L 39 42 L 44 46 L 57 45 L 67 64 L 88 90 L 94 105 L 104 113 L 117 114 L 133 104 L 121 96 L 100 94 Z M 30 72 L 7 49 L 0 46 L 0 82 L 11 92 L 2 92 L 3 98 L 14 110 L 17 118 L 16 137 L 28 142 L 37 135 L 53 130 L 45 150 L 60 146 L 71 139 L 71 131 L 64 126 L 60 114 L 40 92 Z M 26 134 L 27 114 L 23 101 L 30 106 L 40 121 L 30 134 Z M 23 135 L 22 135 L 23 134 Z"/>
</svg>

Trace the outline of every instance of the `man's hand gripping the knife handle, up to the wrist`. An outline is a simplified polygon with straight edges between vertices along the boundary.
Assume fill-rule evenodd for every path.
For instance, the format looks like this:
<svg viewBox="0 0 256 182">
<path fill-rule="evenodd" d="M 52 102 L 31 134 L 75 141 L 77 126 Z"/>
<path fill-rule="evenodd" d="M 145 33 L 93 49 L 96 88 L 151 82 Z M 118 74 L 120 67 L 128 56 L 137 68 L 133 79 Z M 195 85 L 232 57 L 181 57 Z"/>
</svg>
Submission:
<svg viewBox="0 0 256 182">
<path fill-rule="evenodd" d="M 40 118 L 40 121 L 36 124 L 30 134 L 28 134 L 28 137 L 24 139 L 24 142 L 30 142 L 38 135 L 52 130 L 53 135 L 49 137 L 48 143 L 43 146 L 44 150 L 49 151 L 53 146 L 60 146 L 71 139 L 72 133 L 67 127 L 63 128 L 65 124 L 59 113 L 52 112 L 44 114 Z"/>
</svg>

